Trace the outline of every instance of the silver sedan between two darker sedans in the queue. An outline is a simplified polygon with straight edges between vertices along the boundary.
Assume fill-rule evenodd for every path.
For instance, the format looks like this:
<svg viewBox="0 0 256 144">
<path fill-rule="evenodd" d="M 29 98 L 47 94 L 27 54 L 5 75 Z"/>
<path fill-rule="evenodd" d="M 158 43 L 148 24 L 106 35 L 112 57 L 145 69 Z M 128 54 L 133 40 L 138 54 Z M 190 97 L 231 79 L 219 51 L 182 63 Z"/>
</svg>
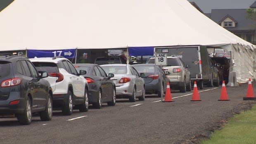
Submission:
<svg viewBox="0 0 256 144">
<path fill-rule="evenodd" d="M 144 73 L 139 74 L 129 64 L 104 64 L 101 67 L 107 74 L 114 73 L 111 79 L 116 84 L 116 98 L 129 98 L 130 102 L 135 102 L 136 97 L 145 100 L 145 83 L 141 78 Z"/>
</svg>

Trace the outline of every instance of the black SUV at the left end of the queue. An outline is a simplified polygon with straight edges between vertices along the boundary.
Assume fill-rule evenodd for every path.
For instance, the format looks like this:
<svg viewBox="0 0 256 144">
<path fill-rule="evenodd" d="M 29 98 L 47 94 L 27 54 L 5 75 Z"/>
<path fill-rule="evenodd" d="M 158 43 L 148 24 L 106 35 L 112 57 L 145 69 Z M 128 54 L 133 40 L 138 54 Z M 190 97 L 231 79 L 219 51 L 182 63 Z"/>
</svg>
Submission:
<svg viewBox="0 0 256 144">
<path fill-rule="evenodd" d="M 21 125 L 31 123 L 32 113 L 41 120 L 52 118 L 52 89 L 31 61 L 17 55 L 0 54 L 0 116 L 16 116 Z"/>
</svg>

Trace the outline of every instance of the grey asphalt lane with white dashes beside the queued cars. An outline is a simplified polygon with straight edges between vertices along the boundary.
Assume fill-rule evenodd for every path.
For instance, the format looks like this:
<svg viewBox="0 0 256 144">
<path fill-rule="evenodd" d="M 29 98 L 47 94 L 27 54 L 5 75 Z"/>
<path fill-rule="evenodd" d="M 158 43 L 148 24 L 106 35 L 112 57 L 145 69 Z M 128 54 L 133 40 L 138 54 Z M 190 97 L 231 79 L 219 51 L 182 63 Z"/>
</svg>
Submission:
<svg viewBox="0 0 256 144">
<path fill-rule="evenodd" d="M 190 144 L 208 138 L 213 130 L 254 101 L 243 101 L 247 83 L 226 87 L 230 101 L 218 101 L 221 87 L 204 88 L 201 102 L 191 102 L 192 91 L 171 91 L 175 102 L 156 102 L 154 95 L 145 101 L 117 99 L 116 106 L 62 116 L 54 111 L 51 121 L 33 116 L 31 125 L 19 125 L 16 118 L 0 119 L 0 144 Z M 253 83 L 254 93 L 256 83 Z M 190 94 L 190 95 L 188 95 Z M 184 96 L 185 95 L 185 96 Z M 73 119 L 76 118 L 76 119 Z"/>
</svg>

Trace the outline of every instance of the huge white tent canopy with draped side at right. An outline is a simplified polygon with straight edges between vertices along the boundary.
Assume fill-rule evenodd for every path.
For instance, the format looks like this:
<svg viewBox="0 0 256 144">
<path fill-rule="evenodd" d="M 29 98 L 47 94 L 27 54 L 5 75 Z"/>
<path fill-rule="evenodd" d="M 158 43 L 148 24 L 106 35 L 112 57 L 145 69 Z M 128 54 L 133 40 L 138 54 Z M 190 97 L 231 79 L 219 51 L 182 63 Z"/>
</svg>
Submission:
<svg viewBox="0 0 256 144">
<path fill-rule="evenodd" d="M 232 51 L 237 81 L 256 79 L 254 45 L 187 0 L 14 0 L 0 12 L 0 40 L 0 51 L 219 46 Z"/>
</svg>

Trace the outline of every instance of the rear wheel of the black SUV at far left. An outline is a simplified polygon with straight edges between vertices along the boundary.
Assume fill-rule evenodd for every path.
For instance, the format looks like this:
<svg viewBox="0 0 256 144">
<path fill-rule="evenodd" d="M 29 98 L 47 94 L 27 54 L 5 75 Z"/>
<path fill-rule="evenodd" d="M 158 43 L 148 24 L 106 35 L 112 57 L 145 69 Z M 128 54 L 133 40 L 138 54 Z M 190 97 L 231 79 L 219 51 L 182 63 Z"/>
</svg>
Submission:
<svg viewBox="0 0 256 144">
<path fill-rule="evenodd" d="M 31 101 L 29 98 L 26 100 L 26 105 L 24 112 L 18 115 L 18 120 L 21 125 L 29 125 L 32 120 L 32 112 L 31 112 Z"/>
</svg>

